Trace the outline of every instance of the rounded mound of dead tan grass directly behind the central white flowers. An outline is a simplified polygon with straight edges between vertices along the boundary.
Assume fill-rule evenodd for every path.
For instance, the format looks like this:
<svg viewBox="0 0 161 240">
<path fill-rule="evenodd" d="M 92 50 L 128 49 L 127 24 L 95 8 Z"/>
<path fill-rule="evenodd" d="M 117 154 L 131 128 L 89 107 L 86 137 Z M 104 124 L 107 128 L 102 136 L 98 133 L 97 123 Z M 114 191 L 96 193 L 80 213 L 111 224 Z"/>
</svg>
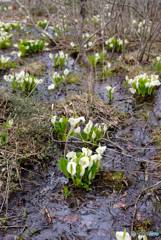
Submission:
<svg viewBox="0 0 161 240">
<path fill-rule="evenodd" d="M 90 94 L 71 95 L 66 100 L 60 100 L 54 106 L 54 112 L 60 116 L 72 117 L 76 113 L 97 122 L 105 122 L 109 127 L 117 126 L 119 118 L 114 114 L 113 106 L 105 105 L 98 97 Z"/>
</svg>

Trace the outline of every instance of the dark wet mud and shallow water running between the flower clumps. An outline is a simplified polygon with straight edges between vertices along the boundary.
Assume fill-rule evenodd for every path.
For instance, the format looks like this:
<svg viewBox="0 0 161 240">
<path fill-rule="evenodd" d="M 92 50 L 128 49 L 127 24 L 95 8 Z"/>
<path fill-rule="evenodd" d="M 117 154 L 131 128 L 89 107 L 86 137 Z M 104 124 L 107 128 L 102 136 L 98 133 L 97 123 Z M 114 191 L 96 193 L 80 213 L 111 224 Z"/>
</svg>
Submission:
<svg viewBox="0 0 161 240">
<path fill-rule="evenodd" d="M 0 51 L 4 55 L 9 50 Z M 53 54 L 54 50 L 51 51 Z M 67 94 L 80 94 L 86 89 L 85 80 L 81 85 L 68 84 L 60 86 L 56 91 L 50 92 L 47 87 L 51 84 L 49 71 L 53 70 L 53 64 L 48 57 L 49 52 L 34 54 L 26 58 L 26 64 L 31 61 L 44 61 L 47 69 L 44 72 L 45 80 L 38 87 L 37 101 L 54 102 L 65 98 Z M 14 56 L 13 56 L 14 58 Z M 85 70 L 79 65 L 73 65 L 74 59 L 69 58 L 68 69 L 71 73 L 84 74 Z M 5 72 L 1 73 L 1 78 Z M 107 92 L 104 90 L 109 83 L 116 86 L 113 104 L 118 104 L 118 110 L 126 112 L 128 118 L 124 124 L 118 126 L 109 133 L 113 142 L 103 142 L 107 149 L 102 158 L 102 171 L 90 186 L 91 190 L 76 189 L 65 175 L 59 170 L 59 158 L 53 155 L 50 166 L 44 172 L 37 173 L 31 167 L 31 171 L 22 172 L 23 190 L 12 193 L 8 204 L 8 221 L 6 229 L 2 229 L 2 217 L 5 216 L 5 207 L 0 219 L 0 239 L 15 239 L 15 236 L 24 235 L 32 240 L 51 239 L 114 239 L 113 231 L 121 231 L 125 228 L 130 233 L 135 202 L 148 186 L 157 183 L 160 176 L 156 172 L 152 159 L 159 154 L 156 145 L 151 144 L 153 129 L 161 124 L 161 88 L 154 97 L 142 99 L 131 98 L 124 87 L 126 73 L 117 74 L 108 78 L 104 83 L 95 85 L 95 92 L 105 103 L 109 103 Z M 1 87 L 6 84 L 0 81 Z M 149 112 L 148 120 L 141 116 Z M 122 118 L 124 119 L 123 113 Z M 137 114 L 137 115 L 136 115 Z M 76 146 L 69 150 L 77 151 Z M 145 181 L 145 171 L 148 165 L 148 181 Z M 113 179 L 113 181 L 111 181 Z M 115 181 L 116 180 L 116 181 Z M 63 185 L 67 185 L 71 194 L 66 199 Z M 143 187 L 144 186 L 144 187 Z M 146 191 L 137 203 L 134 229 L 137 223 L 144 225 L 147 232 L 160 232 L 161 230 L 161 189 Z M 151 222 L 151 228 L 146 221 Z M 140 226 L 142 226 L 140 225 Z M 146 226 L 145 226 L 146 225 Z M 34 229 L 33 234 L 31 231 Z M 31 234 L 31 236 L 30 236 Z M 160 233 L 161 234 L 161 233 Z M 136 238 L 134 238 L 136 239 Z M 148 239 L 160 239 L 151 237 Z"/>
</svg>

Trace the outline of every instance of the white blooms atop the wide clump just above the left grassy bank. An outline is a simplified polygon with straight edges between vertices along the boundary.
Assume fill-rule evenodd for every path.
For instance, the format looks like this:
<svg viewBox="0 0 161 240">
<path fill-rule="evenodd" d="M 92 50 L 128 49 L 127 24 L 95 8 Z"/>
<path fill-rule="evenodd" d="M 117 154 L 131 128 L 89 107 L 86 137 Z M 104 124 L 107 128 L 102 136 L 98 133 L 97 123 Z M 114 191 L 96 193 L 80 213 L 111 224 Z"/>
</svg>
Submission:
<svg viewBox="0 0 161 240">
<path fill-rule="evenodd" d="M 15 73 L 14 75 L 4 75 L 4 80 L 6 82 L 17 82 L 18 84 L 20 84 L 20 86 L 23 85 L 24 81 L 27 81 L 29 83 L 32 83 L 33 78 L 30 77 L 30 75 L 28 73 L 25 73 L 24 71 L 21 71 L 20 73 Z M 34 78 L 34 83 L 36 85 L 39 85 L 43 82 L 42 79 L 37 79 L 36 77 Z"/>
</svg>

